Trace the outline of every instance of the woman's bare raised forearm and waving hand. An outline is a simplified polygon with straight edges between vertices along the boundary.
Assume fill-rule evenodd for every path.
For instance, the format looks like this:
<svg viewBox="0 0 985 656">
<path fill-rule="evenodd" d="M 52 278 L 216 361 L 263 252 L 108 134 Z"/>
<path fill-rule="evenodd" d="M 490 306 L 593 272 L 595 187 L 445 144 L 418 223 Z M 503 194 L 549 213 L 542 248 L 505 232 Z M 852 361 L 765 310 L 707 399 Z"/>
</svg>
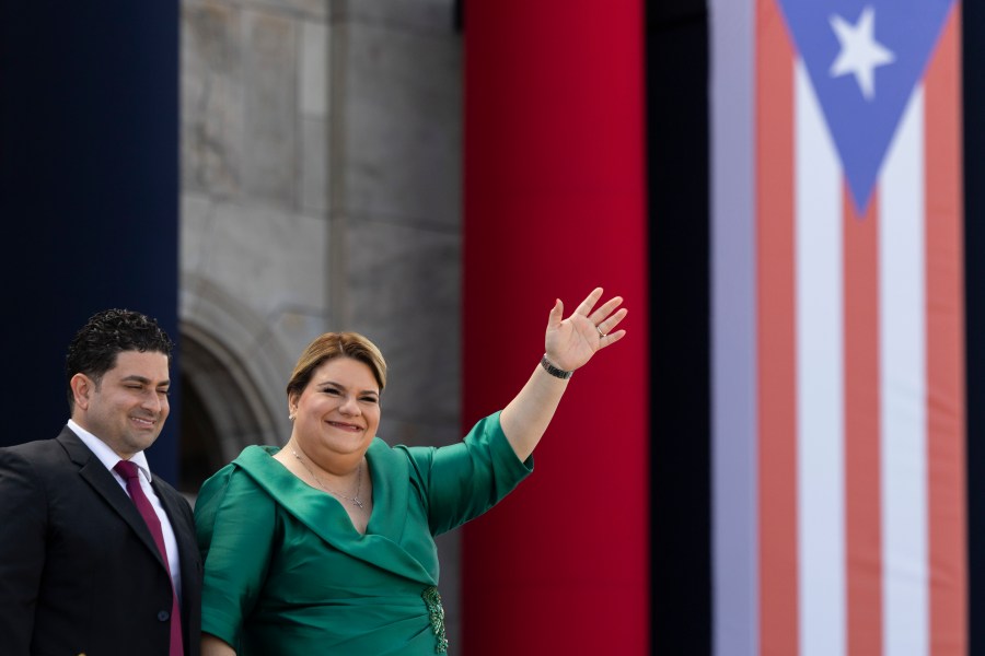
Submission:
<svg viewBox="0 0 985 656">
<path fill-rule="evenodd" d="M 544 336 L 544 352 L 553 368 L 573 372 L 626 335 L 625 330 L 615 330 L 627 313 L 625 307 L 619 308 L 623 298 L 615 296 L 592 309 L 601 297 L 602 288 L 595 288 L 567 319 L 561 318 L 565 306 L 560 300 L 554 304 Z M 520 394 L 500 413 L 502 432 L 521 460 L 541 441 L 568 384 L 568 378 L 548 373 L 538 364 Z"/>
</svg>

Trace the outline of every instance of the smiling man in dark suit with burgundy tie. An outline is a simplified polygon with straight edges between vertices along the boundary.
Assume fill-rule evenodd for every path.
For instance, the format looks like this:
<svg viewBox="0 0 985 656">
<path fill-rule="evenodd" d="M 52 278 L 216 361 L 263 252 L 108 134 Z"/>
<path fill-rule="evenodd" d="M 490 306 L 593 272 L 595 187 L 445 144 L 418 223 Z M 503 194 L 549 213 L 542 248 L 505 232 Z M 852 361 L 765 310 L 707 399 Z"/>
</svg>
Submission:
<svg viewBox="0 0 985 656">
<path fill-rule="evenodd" d="M 143 454 L 167 418 L 172 345 L 139 313 L 93 316 L 66 359 L 68 425 L 0 448 L 5 656 L 198 655 L 192 508 Z"/>
</svg>

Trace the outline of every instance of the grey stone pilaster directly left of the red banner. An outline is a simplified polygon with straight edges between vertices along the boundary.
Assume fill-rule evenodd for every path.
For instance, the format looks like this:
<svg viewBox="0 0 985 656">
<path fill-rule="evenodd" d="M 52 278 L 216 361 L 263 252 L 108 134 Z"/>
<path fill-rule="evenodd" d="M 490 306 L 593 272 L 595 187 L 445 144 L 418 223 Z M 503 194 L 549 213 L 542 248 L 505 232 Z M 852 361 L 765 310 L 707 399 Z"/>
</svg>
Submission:
<svg viewBox="0 0 985 656">
<path fill-rule="evenodd" d="M 336 2 L 329 40 L 328 305 L 338 327 L 370 336 L 386 356 L 381 435 L 450 444 L 462 436 L 462 57 L 453 2 Z M 439 538 L 454 647 L 459 543 L 457 532 Z"/>
</svg>

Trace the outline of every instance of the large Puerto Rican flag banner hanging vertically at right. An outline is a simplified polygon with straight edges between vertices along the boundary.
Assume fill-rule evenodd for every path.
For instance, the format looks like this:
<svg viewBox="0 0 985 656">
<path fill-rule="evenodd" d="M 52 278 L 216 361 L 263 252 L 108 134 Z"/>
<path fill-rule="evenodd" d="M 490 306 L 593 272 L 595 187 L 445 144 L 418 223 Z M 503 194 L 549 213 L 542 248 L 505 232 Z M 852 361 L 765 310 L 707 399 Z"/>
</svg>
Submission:
<svg viewBox="0 0 985 656">
<path fill-rule="evenodd" d="M 728 4 L 716 655 L 966 654 L 960 7 Z"/>
</svg>

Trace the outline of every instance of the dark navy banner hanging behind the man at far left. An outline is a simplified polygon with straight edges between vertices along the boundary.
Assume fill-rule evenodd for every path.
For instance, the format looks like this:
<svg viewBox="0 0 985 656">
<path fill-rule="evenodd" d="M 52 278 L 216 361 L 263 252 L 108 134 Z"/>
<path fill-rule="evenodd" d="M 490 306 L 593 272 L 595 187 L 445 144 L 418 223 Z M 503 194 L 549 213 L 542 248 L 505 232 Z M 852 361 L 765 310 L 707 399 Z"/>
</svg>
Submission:
<svg viewBox="0 0 985 656">
<path fill-rule="evenodd" d="M 96 312 L 176 341 L 177 48 L 177 2 L 0 0 L 2 445 L 65 424 L 66 347 Z M 148 452 L 171 481 L 177 398 Z"/>
</svg>

